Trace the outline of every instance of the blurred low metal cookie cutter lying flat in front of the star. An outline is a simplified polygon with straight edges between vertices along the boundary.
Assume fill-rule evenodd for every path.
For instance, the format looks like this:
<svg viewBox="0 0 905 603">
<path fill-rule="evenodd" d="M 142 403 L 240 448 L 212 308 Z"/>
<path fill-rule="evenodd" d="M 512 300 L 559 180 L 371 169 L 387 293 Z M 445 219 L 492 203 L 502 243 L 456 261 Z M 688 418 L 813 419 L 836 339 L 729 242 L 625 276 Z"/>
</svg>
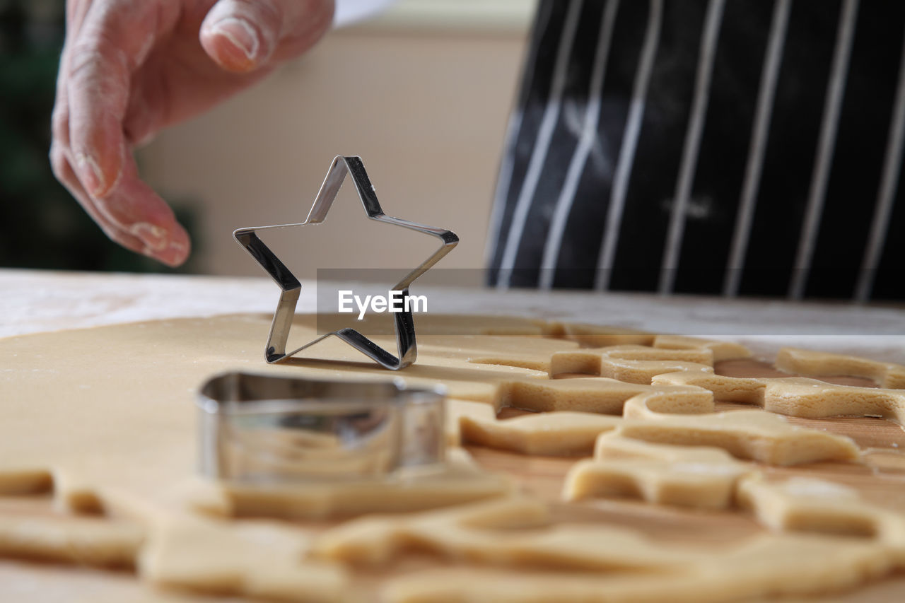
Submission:
<svg viewBox="0 0 905 603">
<path fill-rule="evenodd" d="M 286 483 L 444 468 L 443 388 L 241 372 L 198 392 L 201 473 Z"/>
</svg>

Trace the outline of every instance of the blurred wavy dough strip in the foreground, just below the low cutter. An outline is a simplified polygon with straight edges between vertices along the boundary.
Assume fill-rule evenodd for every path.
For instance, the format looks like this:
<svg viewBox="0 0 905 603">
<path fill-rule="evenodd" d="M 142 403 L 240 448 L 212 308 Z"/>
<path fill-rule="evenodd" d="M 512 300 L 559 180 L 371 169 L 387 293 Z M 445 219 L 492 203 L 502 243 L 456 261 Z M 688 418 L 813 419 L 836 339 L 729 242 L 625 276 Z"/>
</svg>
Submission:
<svg viewBox="0 0 905 603">
<path fill-rule="evenodd" d="M 550 525 L 546 505 L 522 498 L 363 517 L 322 533 L 313 550 L 322 559 L 370 565 L 431 550 L 481 564 L 649 572 L 686 567 L 703 554 L 665 548 L 621 528 Z"/>
</svg>

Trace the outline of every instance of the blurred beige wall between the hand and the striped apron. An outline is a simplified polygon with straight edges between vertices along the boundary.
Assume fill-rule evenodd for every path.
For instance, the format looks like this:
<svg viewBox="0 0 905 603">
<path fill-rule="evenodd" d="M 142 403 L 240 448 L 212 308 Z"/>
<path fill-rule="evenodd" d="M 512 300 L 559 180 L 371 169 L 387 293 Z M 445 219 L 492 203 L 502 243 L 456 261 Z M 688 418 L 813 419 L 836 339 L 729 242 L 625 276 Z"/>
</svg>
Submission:
<svg viewBox="0 0 905 603">
<path fill-rule="evenodd" d="M 443 266 L 483 265 L 533 3 L 497 21 L 406 13 L 401 4 L 376 23 L 332 32 L 261 85 L 141 151 L 151 186 L 195 208 L 198 272 L 261 275 L 233 229 L 302 221 L 338 154 L 364 159 L 387 214 L 460 235 Z M 381 266 L 400 252 L 404 239 L 375 235 L 349 190 L 329 215 L 343 228 L 326 238 L 296 229 L 290 265 L 300 276 L 318 266 Z"/>
</svg>

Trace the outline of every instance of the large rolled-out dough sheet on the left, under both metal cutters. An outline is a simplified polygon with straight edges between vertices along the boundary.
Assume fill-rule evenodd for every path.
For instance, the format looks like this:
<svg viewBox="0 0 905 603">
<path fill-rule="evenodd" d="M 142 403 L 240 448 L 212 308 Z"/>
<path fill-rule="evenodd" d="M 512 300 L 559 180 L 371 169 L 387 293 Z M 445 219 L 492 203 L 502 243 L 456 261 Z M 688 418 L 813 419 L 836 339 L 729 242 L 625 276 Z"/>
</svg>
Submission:
<svg viewBox="0 0 905 603">
<path fill-rule="evenodd" d="M 311 571 L 329 578 L 329 572 L 310 570 L 300 562 L 297 553 L 304 546 L 291 538 L 282 539 L 276 557 L 268 557 L 266 550 L 280 541 L 277 531 L 243 527 L 239 522 L 230 533 L 212 529 L 210 522 L 174 522 L 174 518 L 185 516 L 186 500 L 193 508 L 222 515 L 266 512 L 323 517 L 333 512 L 433 508 L 510 489 L 509 480 L 486 474 L 469 464 L 463 451 L 453 451 L 452 473 L 432 477 L 433 482 L 424 487 L 412 483 L 388 492 L 386 488 L 273 489 L 208 482 L 207 506 L 198 504 L 195 391 L 205 378 L 227 370 L 309 378 L 397 378 L 339 341 L 327 341 L 319 349 L 320 358 L 332 361 L 299 359 L 287 366 L 267 366 L 261 345 L 269 328 L 268 317 L 240 315 L 0 341 L 0 356 L 8 359 L 0 377 L 4 407 L 0 494 L 52 488 L 62 511 L 106 512 L 122 522 L 120 528 L 103 519 L 49 517 L 41 512 L 35 517 L 3 517 L 0 551 L 95 565 L 134 565 L 138 556 L 140 575 L 159 585 L 282 598 L 291 591 L 293 597 L 305 600 L 336 599 L 345 579 L 339 576 L 325 586 L 306 578 Z M 296 336 L 313 339 L 314 334 L 304 317 L 295 325 Z M 540 352 L 545 357 L 573 344 L 548 345 Z M 410 383 L 440 381 L 463 397 L 485 403 L 498 397 L 504 380 L 547 379 L 546 372 L 472 364 L 459 349 L 450 349 L 444 356 L 423 353 L 420 360 L 406 373 Z M 176 554 L 186 550 L 179 545 L 186 542 L 195 542 L 195 557 L 204 563 L 174 561 L 186 559 Z M 253 554 L 255 547 L 266 550 Z M 246 563 L 259 559 L 269 561 L 265 567 Z M 300 589 L 299 580 L 310 589 Z"/>
</svg>

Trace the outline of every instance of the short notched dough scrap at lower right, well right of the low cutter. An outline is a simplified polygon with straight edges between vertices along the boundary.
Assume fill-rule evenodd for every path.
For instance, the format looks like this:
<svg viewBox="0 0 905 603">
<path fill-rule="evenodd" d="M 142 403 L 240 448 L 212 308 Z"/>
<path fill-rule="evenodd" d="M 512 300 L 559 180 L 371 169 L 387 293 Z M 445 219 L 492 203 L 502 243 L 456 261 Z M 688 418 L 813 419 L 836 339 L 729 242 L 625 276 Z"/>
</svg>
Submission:
<svg viewBox="0 0 905 603">
<path fill-rule="evenodd" d="M 628 495 L 648 503 L 726 509 L 750 465 L 722 448 L 658 445 L 609 433 L 597 438 L 595 458 L 569 469 L 563 499 Z"/>
</svg>

